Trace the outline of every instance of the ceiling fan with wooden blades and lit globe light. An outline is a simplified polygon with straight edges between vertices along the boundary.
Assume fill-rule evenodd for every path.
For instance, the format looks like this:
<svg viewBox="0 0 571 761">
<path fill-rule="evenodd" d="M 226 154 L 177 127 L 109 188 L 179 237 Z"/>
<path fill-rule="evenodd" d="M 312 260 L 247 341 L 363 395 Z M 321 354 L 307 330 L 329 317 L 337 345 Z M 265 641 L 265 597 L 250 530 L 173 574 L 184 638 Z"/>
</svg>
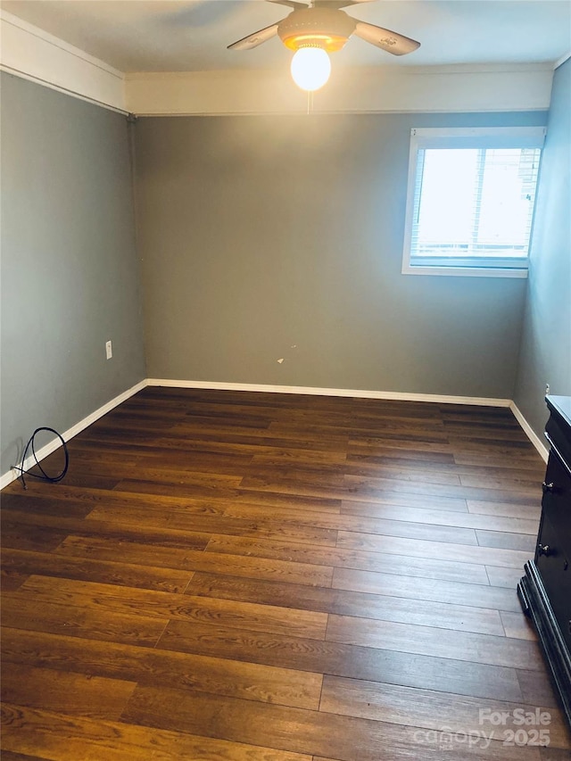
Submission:
<svg viewBox="0 0 571 761">
<path fill-rule="evenodd" d="M 310 4 L 298 0 L 269 2 L 287 5 L 294 11 L 282 21 L 228 45 L 228 50 L 252 50 L 272 37 L 279 37 L 286 47 L 295 51 L 292 76 L 304 90 L 317 90 L 327 82 L 331 71 L 327 53 L 341 50 L 353 34 L 393 55 L 406 55 L 420 46 L 410 37 L 359 21 L 341 10 L 370 0 L 310 0 Z"/>
</svg>

